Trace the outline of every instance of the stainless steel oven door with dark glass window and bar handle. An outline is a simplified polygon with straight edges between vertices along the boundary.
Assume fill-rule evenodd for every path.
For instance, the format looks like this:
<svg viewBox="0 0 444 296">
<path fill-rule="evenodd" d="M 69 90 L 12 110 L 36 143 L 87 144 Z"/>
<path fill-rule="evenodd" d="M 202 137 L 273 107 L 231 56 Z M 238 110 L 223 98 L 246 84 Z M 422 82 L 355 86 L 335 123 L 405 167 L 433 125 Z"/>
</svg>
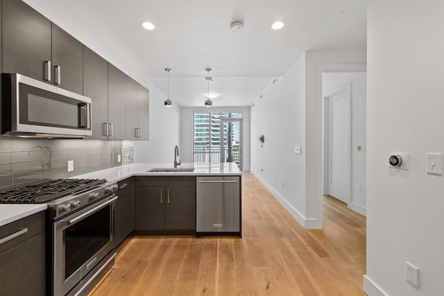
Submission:
<svg viewBox="0 0 444 296">
<path fill-rule="evenodd" d="M 53 295 L 69 293 L 113 250 L 116 200 L 110 195 L 53 222 Z"/>
</svg>

